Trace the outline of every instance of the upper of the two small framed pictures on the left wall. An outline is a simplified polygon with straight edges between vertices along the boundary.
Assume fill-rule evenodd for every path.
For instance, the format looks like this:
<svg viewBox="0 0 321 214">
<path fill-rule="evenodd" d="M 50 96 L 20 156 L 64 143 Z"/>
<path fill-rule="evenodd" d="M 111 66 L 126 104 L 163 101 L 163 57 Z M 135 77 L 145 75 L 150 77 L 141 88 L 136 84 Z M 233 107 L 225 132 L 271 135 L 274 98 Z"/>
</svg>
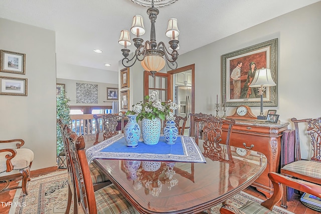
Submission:
<svg viewBox="0 0 321 214">
<path fill-rule="evenodd" d="M 26 74 L 26 54 L 1 50 L 0 71 Z"/>
</svg>

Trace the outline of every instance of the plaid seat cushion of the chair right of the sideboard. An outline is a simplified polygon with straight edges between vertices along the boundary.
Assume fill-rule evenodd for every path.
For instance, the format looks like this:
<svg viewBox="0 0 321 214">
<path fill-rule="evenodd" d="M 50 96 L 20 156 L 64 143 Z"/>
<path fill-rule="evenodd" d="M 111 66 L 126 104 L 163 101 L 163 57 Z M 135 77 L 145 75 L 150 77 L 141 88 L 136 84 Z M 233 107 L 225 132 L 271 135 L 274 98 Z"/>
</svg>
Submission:
<svg viewBox="0 0 321 214">
<path fill-rule="evenodd" d="M 289 163 L 282 169 L 297 172 L 310 177 L 321 178 L 321 163 L 316 161 L 299 160 Z"/>
</svg>

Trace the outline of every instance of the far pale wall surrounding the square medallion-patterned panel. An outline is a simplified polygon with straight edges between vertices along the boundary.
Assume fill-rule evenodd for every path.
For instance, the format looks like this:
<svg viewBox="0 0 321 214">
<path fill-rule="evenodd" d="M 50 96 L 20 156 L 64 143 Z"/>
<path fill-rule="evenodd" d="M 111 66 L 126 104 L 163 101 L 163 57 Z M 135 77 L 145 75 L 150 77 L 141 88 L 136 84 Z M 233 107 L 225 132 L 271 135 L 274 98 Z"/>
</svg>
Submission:
<svg viewBox="0 0 321 214">
<path fill-rule="evenodd" d="M 117 72 L 113 72 L 118 74 Z M 90 75 L 87 74 L 89 77 Z M 60 79 L 57 78 L 57 83 L 65 84 L 66 95 L 70 98 L 69 105 L 111 105 L 112 101 L 107 100 L 107 87 L 118 88 L 118 84 L 104 83 L 104 82 L 91 82 L 74 79 Z M 98 103 L 76 103 L 76 83 L 87 83 L 98 85 Z M 119 97 L 119 90 L 118 90 Z"/>
</svg>

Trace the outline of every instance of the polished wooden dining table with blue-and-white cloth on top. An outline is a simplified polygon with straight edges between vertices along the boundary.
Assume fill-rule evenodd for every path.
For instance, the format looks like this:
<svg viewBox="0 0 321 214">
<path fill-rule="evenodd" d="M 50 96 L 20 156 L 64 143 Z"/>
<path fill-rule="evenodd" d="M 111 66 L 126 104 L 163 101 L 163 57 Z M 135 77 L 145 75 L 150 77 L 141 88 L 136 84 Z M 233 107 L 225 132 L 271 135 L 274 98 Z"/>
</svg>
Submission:
<svg viewBox="0 0 321 214">
<path fill-rule="evenodd" d="M 239 153 L 238 148 L 225 144 L 216 145 L 215 151 L 205 151 L 208 147 L 203 147 L 202 140 L 197 145 L 193 137 L 179 138 L 180 143 L 176 144 L 182 144 L 184 151 L 173 156 L 162 154 L 163 157 L 157 154 L 159 149 L 154 145 L 148 145 L 150 151 L 142 154 L 137 154 L 136 148 L 126 150 L 123 134 L 119 134 L 88 148 L 87 160 L 94 161 L 140 213 L 199 213 L 207 210 L 246 189 L 267 165 L 266 157 L 260 152 L 244 152 L 243 149 Z M 123 150 L 106 150 L 117 143 L 120 148 L 124 144 Z M 179 150 L 161 140 L 158 144 L 158 147 L 169 147 L 169 153 Z M 139 147 L 146 146 L 139 142 Z M 204 155 L 217 152 L 218 147 L 219 159 L 215 155 Z M 189 150 L 196 151 L 189 154 Z M 195 153 L 201 159 L 189 157 Z M 225 161 L 228 153 L 232 160 Z"/>
</svg>

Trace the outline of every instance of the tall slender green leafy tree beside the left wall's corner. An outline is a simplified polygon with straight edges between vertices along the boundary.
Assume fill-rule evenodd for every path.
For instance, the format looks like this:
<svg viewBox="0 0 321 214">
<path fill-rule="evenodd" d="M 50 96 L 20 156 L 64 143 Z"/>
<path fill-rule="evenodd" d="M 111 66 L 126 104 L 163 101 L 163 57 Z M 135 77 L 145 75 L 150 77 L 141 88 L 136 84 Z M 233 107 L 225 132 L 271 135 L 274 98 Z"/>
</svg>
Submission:
<svg viewBox="0 0 321 214">
<path fill-rule="evenodd" d="M 71 125 L 70 108 L 68 102 L 69 97 L 66 96 L 65 90 L 62 88 L 57 96 L 57 119 L 61 119 L 63 123 Z M 57 156 L 64 151 L 64 143 L 60 131 L 60 125 L 57 123 Z"/>
</svg>

